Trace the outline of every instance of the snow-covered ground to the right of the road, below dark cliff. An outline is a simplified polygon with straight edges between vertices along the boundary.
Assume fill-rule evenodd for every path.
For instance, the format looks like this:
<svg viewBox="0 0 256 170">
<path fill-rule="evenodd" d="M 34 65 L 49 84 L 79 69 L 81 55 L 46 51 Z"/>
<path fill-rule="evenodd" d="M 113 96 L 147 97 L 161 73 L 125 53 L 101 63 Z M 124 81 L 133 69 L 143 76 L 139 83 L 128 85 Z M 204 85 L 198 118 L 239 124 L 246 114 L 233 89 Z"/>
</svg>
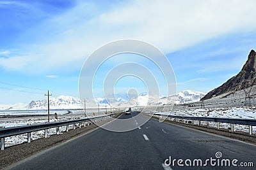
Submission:
<svg viewBox="0 0 256 170">
<path fill-rule="evenodd" d="M 207 116 L 207 111 L 210 111 L 210 115 Z M 154 111 L 148 111 L 147 113 L 154 113 Z M 256 108 L 215 108 L 215 109 L 190 109 L 190 110 L 173 110 L 157 112 L 163 115 L 175 115 L 184 117 L 214 117 L 214 118 L 248 118 L 256 119 Z M 156 114 L 157 114 L 156 113 Z M 199 121 L 195 121 L 195 124 L 199 124 Z M 207 125 L 206 122 L 202 122 L 202 125 Z M 217 127 L 216 122 L 210 122 L 211 127 Z M 228 129 L 230 124 L 220 124 L 220 128 Z M 249 132 L 247 125 L 234 125 L 234 131 Z M 256 133 L 256 127 L 253 127 L 253 133 Z"/>
</svg>

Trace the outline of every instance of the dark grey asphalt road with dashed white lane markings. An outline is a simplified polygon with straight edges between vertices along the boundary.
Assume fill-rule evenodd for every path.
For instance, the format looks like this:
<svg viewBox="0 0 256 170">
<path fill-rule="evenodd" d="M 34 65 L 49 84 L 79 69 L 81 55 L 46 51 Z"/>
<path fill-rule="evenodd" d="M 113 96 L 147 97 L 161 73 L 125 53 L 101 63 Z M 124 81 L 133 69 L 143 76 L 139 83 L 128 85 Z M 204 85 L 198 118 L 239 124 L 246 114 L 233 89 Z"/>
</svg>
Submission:
<svg viewBox="0 0 256 170">
<path fill-rule="evenodd" d="M 120 118 L 132 118 L 137 114 L 124 114 Z M 136 121 L 134 118 L 134 124 Z M 202 159 L 205 163 L 211 157 L 216 159 L 216 152 L 222 153 L 220 161 L 237 159 L 237 165 L 253 162 L 256 166 L 254 145 L 150 119 L 147 124 L 130 132 L 110 132 L 99 128 L 12 169 L 239 169 L 211 166 L 209 161 L 206 167 L 189 167 L 189 160 L 192 165 L 195 159 Z M 169 161 L 165 160 L 170 157 L 172 161 L 189 159 L 186 162 L 188 166 L 181 167 L 185 163 L 179 166 L 177 161 L 175 166 L 168 165 Z"/>
</svg>

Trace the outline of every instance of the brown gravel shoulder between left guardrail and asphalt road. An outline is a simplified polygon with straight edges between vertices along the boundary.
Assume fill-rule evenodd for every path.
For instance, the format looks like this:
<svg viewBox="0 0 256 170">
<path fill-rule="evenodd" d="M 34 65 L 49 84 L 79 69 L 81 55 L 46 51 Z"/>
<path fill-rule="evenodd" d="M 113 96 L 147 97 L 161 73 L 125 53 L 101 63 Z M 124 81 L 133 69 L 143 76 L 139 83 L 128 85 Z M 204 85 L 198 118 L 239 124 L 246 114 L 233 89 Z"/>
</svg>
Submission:
<svg viewBox="0 0 256 170">
<path fill-rule="evenodd" d="M 115 116 L 119 117 L 122 113 Z M 104 124 L 106 122 L 102 122 Z M 31 143 L 22 143 L 20 145 L 14 145 L 0 150 L 0 169 L 6 169 L 4 167 L 26 159 L 35 153 L 39 153 L 43 150 L 51 148 L 54 145 L 59 145 L 72 138 L 80 136 L 86 132 L 90 132 L 97 128 L 98 125 L 86 125 L 86 127 L 77 128 L 76 130 L 69 130 L 58 135 L 52 135 L 49 138 L 41 138 L 31 141 Z"/>
</svg>

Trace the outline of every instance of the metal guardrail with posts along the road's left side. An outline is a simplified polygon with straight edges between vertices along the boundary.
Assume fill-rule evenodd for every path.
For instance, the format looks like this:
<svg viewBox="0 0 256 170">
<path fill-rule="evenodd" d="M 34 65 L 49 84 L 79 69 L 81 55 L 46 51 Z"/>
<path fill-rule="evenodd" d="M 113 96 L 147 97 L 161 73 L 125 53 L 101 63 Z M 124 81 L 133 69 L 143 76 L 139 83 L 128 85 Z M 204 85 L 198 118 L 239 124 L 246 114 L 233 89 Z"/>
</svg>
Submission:
<svg viewBox="0 0 256 170">
<path fill-rule="evenodd" d="M 88 125 L 90 125 L 90 122 L 97 120 L 106 120 L 108 117 L 111 117 L 115 115 L 115 113 L 112 113 L 110 115 L 102 115 L 98 117 L 93 118 L 83 118 L 78 120 L 68 120 L 68 121 L 62 121 L 62 122 L 50 122 L 45 124 L 34 124 L 34 125 L 22 125 L 17 127 L 6 127 L 3 129 L 0 129 L 0 139 L 1 139 L 1 150 L 4 150 L 4 138 L 10 137 L 10 136 L 16 136 L 19 134 L 28 134 L 28 143 L 31 142 L 31 132 L 35 131 L 45 131 L 45 138 L 47 138 L 47 129 L 56 128 L 56 134 L 60 133 L 60 127 L 66 126 L 66 131 L 68 131 L 68 125 L 74 125 L 74 129 L 76 129 L 76 124 L 79 124 L 79 127 L 81 127 L 81 123 L 84 123 L 84 127 L 86 126 L 86 122 Z"/>
</svg>

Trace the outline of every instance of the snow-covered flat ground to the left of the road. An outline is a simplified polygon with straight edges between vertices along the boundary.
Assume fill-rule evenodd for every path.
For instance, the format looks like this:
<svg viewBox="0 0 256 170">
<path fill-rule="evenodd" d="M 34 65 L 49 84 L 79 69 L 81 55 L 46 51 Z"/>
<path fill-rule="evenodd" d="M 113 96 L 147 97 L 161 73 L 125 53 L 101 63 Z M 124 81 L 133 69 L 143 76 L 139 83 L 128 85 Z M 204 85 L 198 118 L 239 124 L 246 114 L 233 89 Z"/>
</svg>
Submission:
<svg viewBox="0 0 256 170">
<path fill-rule="evenodd" d="M 104 110 L 105 111 L 105 110 Z M 60 121 L 65 121 L 65 120 L 76 120 L 80 118 L 88 118 L 84 114 L 83 110 L 76 110 L 72 111 L 72 113 L 67 114 L 67 111 L 52 111 L 51 114 L 53 113 L 58 113 L 58 119 L 56 120 L 54 118 L 54 115 L 50 116 L 50 122 L 60 122 Z M 98 116 L 98 110 L 86 110 L 86 114 L 89 115 L 89 117 L 92 117 L 90 115 L 93 115 L 95 113 L 95 116 Z M 5 114 L 5 113 L 4 113 Z M 31 117 L 8 117 L 8 118 L 0 118 L 0 128 L 4 127 L 17 127 L 21 125 L 32 125 L 32 124 L 44 124 L 48 122 L 48 117 L 43 116 L 47 113 L 45 111 L 22 111 L 20 112 L 8 112 L 8 115 L 31 115 Z M 3 113 L 0 113 L 0 115 L 3 116 Z M 33 115 L 42 115 L 42 116 L 36 116 L 33 117 Z M 104 115 L 103 112 L 100 113 L 100 115 Z M 69 125 L 69 129 L 72 129 L 73 125 Z M 60 132 L 66 131 L 66 127 L 60 127 Z M 48 136 L 52 136 L 56 134 L 56 128 L 48 129 Z M 44 131 L 36 131 L 31 133 L 31 139 L 39 139 L 39 138 L 44 138 Z M 20 134 L 17 136 L 11 136 L 8 138 L 5 138 L 5 146 L 12 146 L 12 145 L 17 145 L 20 143 L 25 143 L 28 141 L 28 136 L 27 134 Z"/>
</svg>

